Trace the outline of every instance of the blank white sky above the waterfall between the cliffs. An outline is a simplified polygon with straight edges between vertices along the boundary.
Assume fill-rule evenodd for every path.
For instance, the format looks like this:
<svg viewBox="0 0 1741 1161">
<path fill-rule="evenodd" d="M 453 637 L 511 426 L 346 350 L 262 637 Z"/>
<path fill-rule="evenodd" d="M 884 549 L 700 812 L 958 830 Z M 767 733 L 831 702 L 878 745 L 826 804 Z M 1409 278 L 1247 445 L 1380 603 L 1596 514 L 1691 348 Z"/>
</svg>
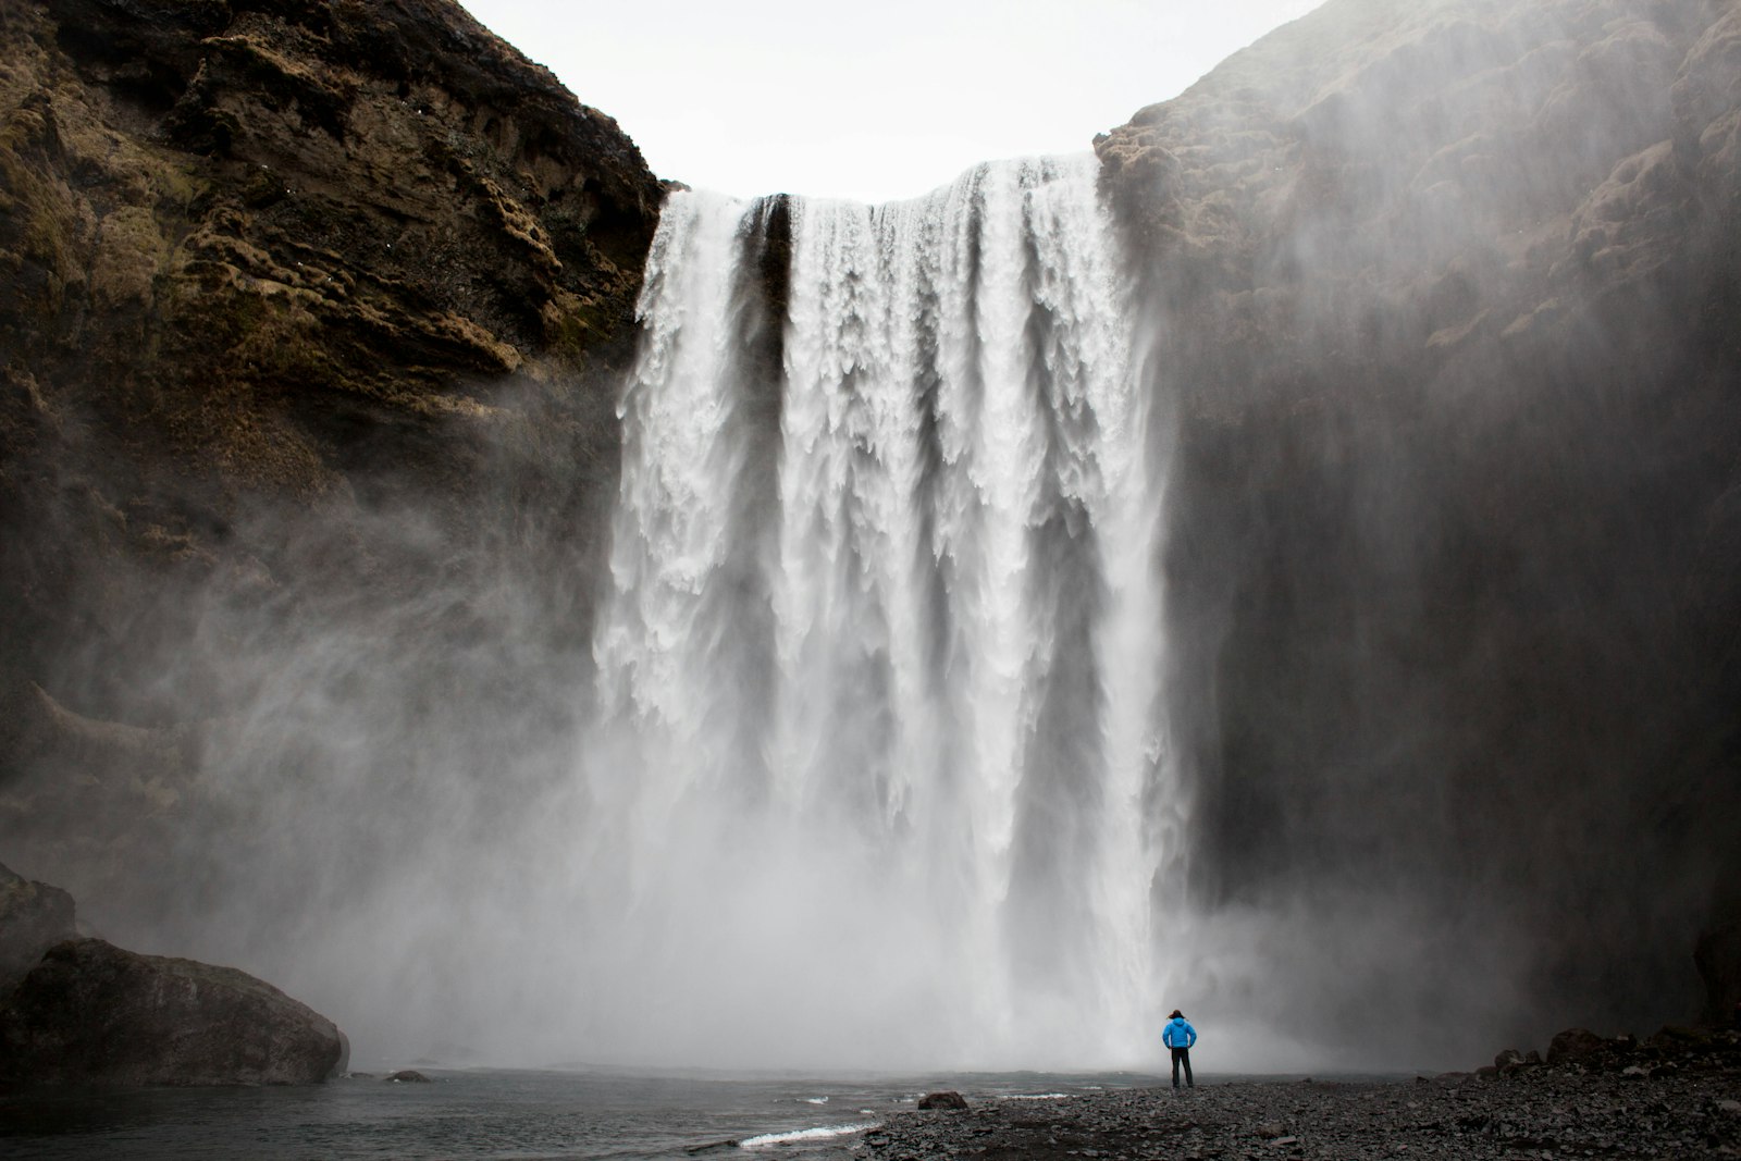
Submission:
<svg viewBox="0 0 1741 1161">
<path fill-rule="evenodd" d="M 884 202 L 1088 150 L 1321 0 L 461 2 L 660 178 Z"/>
</svg>

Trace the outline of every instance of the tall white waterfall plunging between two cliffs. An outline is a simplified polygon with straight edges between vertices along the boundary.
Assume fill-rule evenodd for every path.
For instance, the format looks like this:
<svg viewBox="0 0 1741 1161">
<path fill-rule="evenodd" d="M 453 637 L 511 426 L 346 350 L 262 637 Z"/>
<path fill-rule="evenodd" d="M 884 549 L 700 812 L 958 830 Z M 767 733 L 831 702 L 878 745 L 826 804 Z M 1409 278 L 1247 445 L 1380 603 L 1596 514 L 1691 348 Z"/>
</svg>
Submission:
<svg viewBox="0 0 1741 1161">
<path fill-rule="evenodd" d="M 588 1036 L 1149 1060 L 1165 465 L 1093 158 L 876 207 L 677 191 L 639 313 Z"/>
</svg>

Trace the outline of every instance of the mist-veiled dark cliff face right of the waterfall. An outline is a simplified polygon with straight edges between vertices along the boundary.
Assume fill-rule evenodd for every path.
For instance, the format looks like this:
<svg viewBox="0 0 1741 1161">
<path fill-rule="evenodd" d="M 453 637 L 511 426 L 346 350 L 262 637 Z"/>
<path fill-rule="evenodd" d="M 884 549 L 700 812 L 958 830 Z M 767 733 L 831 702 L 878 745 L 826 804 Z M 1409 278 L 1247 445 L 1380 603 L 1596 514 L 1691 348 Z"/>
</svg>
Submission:
<svg viewBox="0 0 1741 1161">
<path fill-rule="evenodd" d="M 1297 917 L 1250 1001 L 1283 1023 L 1697 1010 L 1741 782 L 1738 134 L 1732 3 L 1332 0 L 1097 141 L 1177 399 L 1189 889 Z"/>
</svg>

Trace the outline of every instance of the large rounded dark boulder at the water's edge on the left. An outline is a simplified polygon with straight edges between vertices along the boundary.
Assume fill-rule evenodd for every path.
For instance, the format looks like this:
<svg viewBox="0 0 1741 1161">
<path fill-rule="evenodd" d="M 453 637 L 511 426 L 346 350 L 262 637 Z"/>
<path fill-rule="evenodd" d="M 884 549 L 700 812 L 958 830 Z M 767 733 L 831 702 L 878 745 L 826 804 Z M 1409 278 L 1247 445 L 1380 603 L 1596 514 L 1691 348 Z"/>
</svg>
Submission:
<svg viewBox="0 0 1741 1161">
<path fill-rule="evenodd" d="M 310 1084 L 348 1065 L 338 1027 L 235 968 L 54 945 L 0 1006 L 0 1083 Z"/>
</svg>

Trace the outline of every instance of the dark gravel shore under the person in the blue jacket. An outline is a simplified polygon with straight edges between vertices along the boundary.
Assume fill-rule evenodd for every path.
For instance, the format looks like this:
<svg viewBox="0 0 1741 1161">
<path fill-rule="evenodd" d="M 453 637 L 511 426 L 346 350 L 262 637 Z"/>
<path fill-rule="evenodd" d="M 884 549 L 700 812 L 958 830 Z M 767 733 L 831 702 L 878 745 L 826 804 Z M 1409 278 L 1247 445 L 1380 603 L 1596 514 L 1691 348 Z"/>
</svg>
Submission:
<svg viewBox="0 0 1741 1161">
<path fill-rule="evenodd" d="M 1741 1036 L 1593 1044 L 1600 1051 L 1555 1064 L 1501 1053 L 1480 1072 L 1414 1081 L 1231 1081 L 1179 1095 L 973 1102 L 893 1117 L 853 1152 L 879 1161 L 1741 1156 Z"/>
</svg>

